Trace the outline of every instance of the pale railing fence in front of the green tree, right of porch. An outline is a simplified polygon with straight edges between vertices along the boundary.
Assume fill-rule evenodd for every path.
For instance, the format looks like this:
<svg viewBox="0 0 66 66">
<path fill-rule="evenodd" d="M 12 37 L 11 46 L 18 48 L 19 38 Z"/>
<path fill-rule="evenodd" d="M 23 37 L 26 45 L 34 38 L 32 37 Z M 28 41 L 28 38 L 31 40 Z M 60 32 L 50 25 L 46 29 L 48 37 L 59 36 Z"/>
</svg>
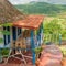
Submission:
<svg viewBox="0 0 66 66">
<path fill-rule="evenodd" d="M 44 44 L 62 44 L 62 34 L 44 34 Z"/>
</svg>

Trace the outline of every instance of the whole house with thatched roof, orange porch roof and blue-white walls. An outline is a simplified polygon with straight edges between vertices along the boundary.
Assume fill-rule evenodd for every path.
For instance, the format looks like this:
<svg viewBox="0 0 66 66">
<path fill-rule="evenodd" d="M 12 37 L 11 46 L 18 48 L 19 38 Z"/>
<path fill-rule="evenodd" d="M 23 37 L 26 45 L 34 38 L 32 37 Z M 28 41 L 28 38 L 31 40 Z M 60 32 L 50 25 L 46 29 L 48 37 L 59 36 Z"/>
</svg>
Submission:
<svg viewBox="0 0 66 66">
<path fill-rule="evenodd" d="M 33 48 L 41 46 L 43 43 L 44 15 L 24 15 L 8 0 L 1 0 L 0 3 L 0 48 L 22 48 L 22 44 L 26 45 L 28 38 L 32 50 L 32 61 L 35 64 L 35 52 Z M 26 48 L 29 47 L 26 46 Z"/>
</svg>

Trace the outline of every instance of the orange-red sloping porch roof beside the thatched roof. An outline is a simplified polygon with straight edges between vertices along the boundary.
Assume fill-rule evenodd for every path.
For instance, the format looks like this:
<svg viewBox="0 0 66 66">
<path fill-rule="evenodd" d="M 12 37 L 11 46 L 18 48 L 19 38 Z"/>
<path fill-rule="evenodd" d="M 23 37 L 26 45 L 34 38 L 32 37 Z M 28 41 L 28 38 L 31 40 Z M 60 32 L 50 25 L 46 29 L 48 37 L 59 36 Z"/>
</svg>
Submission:
<svg viewBox="0 0 66 66">
<path fill-rule="evenodd" d="M 24 20 L 13 22 L 13 25 L 18 26 L 18 28 L 23 28 L 23 29 L 33 29 L 33 30 L 35 30 L 35 29 L 40 28 L 43 20 L 44 20 L 44 15 L 29 15 Z"/>
</svg>

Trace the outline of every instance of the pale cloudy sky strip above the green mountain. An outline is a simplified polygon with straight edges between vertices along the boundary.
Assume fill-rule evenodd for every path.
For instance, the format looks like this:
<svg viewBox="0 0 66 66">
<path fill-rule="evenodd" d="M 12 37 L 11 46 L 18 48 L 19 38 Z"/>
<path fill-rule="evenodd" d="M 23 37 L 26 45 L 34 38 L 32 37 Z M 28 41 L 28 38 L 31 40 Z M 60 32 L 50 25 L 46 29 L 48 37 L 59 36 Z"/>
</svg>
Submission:
<svg viewBox="0 0 66 66">
<path fill-rule="evenodd" d="M 31 1 L 50 2 L 55 4 L 66 4 L 66 0 L 9 0 L 12 4 L 24 4 Z"/>
</svg>

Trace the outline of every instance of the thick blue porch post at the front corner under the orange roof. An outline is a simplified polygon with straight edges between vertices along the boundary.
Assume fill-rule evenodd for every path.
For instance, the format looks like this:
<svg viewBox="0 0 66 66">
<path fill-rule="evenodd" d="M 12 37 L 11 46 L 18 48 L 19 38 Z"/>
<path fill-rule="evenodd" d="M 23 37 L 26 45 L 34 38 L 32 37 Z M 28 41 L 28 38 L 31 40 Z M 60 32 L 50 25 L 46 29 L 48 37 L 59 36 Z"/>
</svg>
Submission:
<svg viewBox="0 0 66 66">
<path fill-rule="evenodd" d="M 32 56 L 33 56 L 33 65 L 35 65 L 35 45 L 34 45 L 34 32 L 31 30 L 31 47 L 32 47 Z"/>
</svg>

